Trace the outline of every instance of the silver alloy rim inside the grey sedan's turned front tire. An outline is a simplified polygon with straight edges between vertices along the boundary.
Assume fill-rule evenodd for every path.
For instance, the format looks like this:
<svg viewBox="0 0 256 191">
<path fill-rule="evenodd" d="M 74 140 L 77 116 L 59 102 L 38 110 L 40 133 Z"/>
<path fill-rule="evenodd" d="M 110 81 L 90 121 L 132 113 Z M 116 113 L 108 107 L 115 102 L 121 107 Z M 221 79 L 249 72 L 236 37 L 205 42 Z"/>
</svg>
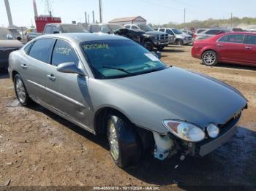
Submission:
<svg viewBox="0 0 256 191">
<path fill-rule="evenodd" d="M 111 119 L 108 121 L 108 141 L 110 144 L 110 153 L 113 159 L 118 160 L 118 157 L 119 157 L 118 138 L 116 134 L 115 124 Z"/>
</svg>

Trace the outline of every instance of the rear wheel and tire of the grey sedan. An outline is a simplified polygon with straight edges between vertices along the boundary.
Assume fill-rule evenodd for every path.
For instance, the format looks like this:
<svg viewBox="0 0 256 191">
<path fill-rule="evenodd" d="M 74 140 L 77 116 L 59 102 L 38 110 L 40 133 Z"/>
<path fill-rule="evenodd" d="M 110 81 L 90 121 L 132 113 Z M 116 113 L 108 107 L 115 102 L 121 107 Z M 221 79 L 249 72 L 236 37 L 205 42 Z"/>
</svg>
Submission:
<svg viewBox="0 0 256 191">
<path fill-rule="evenodd" d="M 16 97 L 20 104 L 22 106 L 28 105 L 30 101 L 29 94 L 26 91 L 25 84 L 20 74 L 16 74 L 14 77 L 14 88 Z"/>
</svg>

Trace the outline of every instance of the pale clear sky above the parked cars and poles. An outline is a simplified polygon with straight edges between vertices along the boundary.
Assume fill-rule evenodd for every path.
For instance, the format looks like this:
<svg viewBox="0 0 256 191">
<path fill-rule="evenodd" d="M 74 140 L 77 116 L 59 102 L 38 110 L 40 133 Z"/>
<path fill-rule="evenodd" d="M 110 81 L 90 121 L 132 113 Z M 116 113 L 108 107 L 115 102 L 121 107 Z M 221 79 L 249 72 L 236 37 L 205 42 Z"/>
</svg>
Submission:
<svg viewBox="0 0 256 191">
<path fill-rule="evenodd" d="M 9 0 L 12 20 L 16 26 L 31 26 L 34 23 L 32 0 Z M 84 22 L 84 12 L 92 10 L 99 20 L 98 0 L 51 0 L 53 16 L 61 17 L 62 23 L 72 20 Z M 148 23 L 183 23 L 184 8 L 187 21 L 211 18 L 256 17 L 256 0 L 102 0 L 103 21 L 107 23 L 116 17 L 142 16 Z M 37 0 L 39 15 L 45 15 L 45 3 Z M 4 0 L 0 0 L 0 26 L 8 26 Z"/>
</svg>

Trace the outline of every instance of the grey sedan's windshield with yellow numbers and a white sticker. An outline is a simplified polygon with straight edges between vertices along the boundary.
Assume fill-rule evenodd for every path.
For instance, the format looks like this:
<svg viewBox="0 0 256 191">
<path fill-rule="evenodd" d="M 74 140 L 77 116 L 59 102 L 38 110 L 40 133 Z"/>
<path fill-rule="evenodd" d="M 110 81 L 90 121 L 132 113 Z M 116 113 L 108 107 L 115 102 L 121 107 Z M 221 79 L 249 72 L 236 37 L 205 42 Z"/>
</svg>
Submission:
<svg viewBox="0 0 256 191">
<path fill-rule="evenodd" d="M 81 48 L 97 79 L 130 77 L 167 68 L 151 52 L 130 40 L 83 42 Z"/>
</svg>

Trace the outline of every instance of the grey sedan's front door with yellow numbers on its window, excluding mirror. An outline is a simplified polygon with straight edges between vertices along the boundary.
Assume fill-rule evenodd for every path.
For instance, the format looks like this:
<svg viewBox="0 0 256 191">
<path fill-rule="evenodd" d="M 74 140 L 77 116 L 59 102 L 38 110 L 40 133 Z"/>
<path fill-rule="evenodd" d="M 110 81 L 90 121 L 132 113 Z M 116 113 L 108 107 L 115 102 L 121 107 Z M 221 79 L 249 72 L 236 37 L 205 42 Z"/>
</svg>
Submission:
<svg viewBox="0 0 256 191">
<path fill-rule="evenodd" d="M 91 112 L 88 78 L 57 71 L 56 68 L 59 64 L 67 62 L 73 62 L 83 69 L 80 58 L 72 45 L 63 39 L 58 39 L 53 47 L 51 65 L 45 68 L 48 104 L 75 122 L 87 127 L 90 126 L 88 125 L 88 115 Z"/>
</svg>

